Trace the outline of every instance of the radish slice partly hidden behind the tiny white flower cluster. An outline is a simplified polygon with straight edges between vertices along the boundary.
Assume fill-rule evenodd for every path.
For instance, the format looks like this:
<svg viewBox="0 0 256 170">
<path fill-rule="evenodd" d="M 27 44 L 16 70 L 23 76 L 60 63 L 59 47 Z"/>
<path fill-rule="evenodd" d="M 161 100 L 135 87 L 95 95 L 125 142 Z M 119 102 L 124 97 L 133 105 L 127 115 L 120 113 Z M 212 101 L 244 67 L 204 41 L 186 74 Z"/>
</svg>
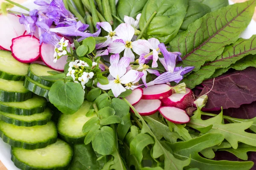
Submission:
<svg viewBox="0 0 256 170">
<path fill-rule="evenodd" d="M 53 45 L 42 43 L 40 46 L 41 59 L 48 67 L 58 71 L 64 71 L 64 66 L 67 63 L 67 56 L 61 57 L 54 63 L 54 49 L 55 47 Z"/>
</svg>

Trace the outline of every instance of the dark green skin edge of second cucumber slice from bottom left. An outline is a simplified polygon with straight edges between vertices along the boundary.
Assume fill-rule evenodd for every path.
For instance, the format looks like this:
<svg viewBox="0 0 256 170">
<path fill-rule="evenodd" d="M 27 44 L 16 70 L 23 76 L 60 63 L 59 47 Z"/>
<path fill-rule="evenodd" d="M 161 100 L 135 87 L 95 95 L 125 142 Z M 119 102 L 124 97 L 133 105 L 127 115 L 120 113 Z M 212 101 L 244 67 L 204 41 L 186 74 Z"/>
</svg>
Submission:
<svg viewBox="0 0 256 170">
<path fill-rule="evenodd" d="M 3 142 L 8 143 L 12 147 L 21 147 L 23 149 L 33 150 L 33 149 L 44 148 L 44 147 L 47 147 L 49 144 L 55 143 L 57 141 L 57 132 L 56 132 L 56 136 L 54 138 L 49 139 L 47 142 L 41 142 L 41 143 L 36 143 L 36 144 L 29 144 L 29 143 L 25 143 L 25 142 L 15 141 L 15 140 L 7 137 L 1 130 L 0 130 L 0 137 L 3 139 Z"/>
</svg>

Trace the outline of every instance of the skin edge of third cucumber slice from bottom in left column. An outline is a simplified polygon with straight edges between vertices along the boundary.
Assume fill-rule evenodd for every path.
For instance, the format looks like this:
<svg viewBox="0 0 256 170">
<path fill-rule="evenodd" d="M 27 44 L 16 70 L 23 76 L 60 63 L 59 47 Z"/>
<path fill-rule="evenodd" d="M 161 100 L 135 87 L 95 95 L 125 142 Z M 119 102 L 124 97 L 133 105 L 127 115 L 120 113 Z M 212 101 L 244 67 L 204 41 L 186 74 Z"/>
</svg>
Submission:
<svg viewBox="0 0 256 170">
<path fill-rule="evenodd" d="M 16 125 L 16 126 L 26 126 L 26 127 L 31 127 L 31 126 L 38 126 L 38 125 L 46 125 L 48 122 L 51 121 L 51 117 L 49 116 L 47 119 L 40 120 L 40 121 L 32 121 L 32 122 L 23 122 L 17 119 L 9 118 L 7 116 L 4 116 L 0 114 L 0 120 L 3 120 L 3 122 Z"/>
</svg>

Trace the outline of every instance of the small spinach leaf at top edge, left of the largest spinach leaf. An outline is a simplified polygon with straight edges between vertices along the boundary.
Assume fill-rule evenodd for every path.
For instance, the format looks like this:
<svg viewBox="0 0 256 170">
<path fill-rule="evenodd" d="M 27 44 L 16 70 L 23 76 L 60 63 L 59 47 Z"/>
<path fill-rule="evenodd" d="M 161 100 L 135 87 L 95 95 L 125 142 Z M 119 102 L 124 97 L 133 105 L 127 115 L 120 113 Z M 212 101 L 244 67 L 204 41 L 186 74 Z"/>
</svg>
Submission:
<svg viewBox="0 0 256 170">
<path fill-rule="evenodd" d="M 140 14 L 145 3 L 148 0 L 119 0 L 116 8 L 118 16 L 121 20 L 124 19 L 125 15 L 136 18 L 137 14 Z"/>
</svg>

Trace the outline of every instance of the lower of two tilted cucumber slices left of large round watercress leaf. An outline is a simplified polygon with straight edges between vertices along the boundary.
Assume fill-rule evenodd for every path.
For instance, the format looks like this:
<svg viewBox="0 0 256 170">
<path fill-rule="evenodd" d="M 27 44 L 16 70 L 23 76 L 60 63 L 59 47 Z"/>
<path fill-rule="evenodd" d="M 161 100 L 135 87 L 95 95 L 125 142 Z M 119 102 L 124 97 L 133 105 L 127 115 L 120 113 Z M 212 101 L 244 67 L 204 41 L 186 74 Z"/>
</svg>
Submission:
<svg viewBox="0 0 256 170">
<path fill-rule="evenodd" d="M 50 88 L 45 85 L 41 85 L 39 82 L 36 82 L 27 76 L 24 80 L 24 87 L 29 91 L 37 94 L 38 96 L 42 96 L 48 99 L 48 92 Z"/>
</svg>

